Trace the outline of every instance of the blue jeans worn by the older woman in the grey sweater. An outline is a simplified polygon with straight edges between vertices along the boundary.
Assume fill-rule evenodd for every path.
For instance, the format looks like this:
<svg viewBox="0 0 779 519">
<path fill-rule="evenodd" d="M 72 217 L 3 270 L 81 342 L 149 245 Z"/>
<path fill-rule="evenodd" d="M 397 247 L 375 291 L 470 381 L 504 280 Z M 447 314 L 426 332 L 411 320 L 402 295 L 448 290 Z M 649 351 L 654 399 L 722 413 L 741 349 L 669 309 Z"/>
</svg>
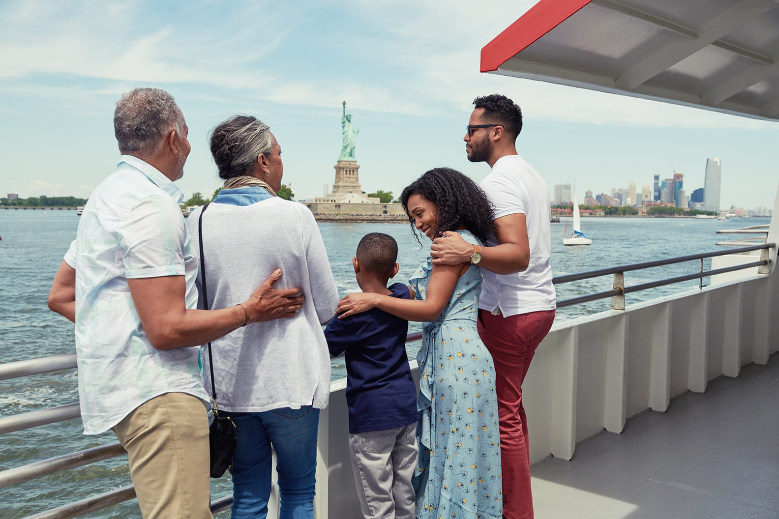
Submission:
<svg viewBox="0 0 779 519">
<path fill-rule="evenodd" d="M 312 519 L 319 409 L 230 413 L 235 422 L 232 519 L 265 519 L 272 458 L 279 473 L 280 519 Z"/>
</svg>

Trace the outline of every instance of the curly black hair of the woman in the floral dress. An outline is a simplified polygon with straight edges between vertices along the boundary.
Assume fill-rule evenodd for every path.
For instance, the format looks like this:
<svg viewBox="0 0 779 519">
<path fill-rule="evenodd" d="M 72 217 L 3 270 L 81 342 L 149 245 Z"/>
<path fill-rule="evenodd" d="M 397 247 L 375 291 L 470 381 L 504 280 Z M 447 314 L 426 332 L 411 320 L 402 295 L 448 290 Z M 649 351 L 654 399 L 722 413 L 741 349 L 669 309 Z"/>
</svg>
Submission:
<svg viewBox="0 0 779 519">
<path fill-rule="evenodd" d="M 439 219 L 435 235 L 455 230 L 459 226 L 464 226 L 483 242 L 495 235 L 492 203 L 478 184 L 460 171 L 450 167 L 436 167 L 407 185 L 400 194 L 400 203 L 411 222 L 411 232 L 421 244 L 414 226 L 414 216 L 408 211 L 408 198 L 411 195 L 420 195 L 438 205 Z"/>
</svg>

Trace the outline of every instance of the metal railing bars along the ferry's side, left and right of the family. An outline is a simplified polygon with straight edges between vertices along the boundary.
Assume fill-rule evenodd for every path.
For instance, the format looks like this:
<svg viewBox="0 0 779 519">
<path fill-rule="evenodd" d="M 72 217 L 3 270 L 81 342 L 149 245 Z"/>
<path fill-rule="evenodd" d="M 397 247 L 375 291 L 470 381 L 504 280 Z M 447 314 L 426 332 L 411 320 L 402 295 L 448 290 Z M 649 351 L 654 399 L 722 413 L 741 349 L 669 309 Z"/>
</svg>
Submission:
<svg viewBox="0 0 779 519">
<path fill-rule="evenodd" d="M 613 275 L 614 282 L 611 290 L 592 293 L 586 296 L 578 296 L 557 302 L 557 307 L 569 307 L 575 304 L 587 303 L 589 301 L 612 298 L 612 310 L 625 310 L 625 295 L 627 293 L 639 292 L 640 290 L 652 289 L 658 286 L 671 285 L 673 283 L 689 281 L 691 279 L 700 279 L 700 287 L 703 288 L 702 280 L 710 275 L 723 274 L 725 272 L 735 272 L 746 268 L 760 268 L 759 273 L 767 274 L 768 265 L 770 265 L 769 250 L 776 247 L 776 244 L 756 244 L 748 247 L 739 247 L 727 251 L 707 252 L 703 254 L 689 254 L 677 258 L 668 258 L 657 261 L 644 261 L 631 265 L 620 265 L 611 268 L 601 268 L 589 272 L 578 272 L 576 274 L 559 275 L 553 279 L 555 285 L 562 283 L 581 281 L 584 279 L 593 279 L 604 275 Z M 727 268 L 717 268 L 714 270 L 703 270 L 703 259 L 724 256 L 726 254 L 739 254 L 742 252 L 762 251 L 759 261 L 749 261 L 741 265 L 735 265 Z M 684 261 L 699 261 L 700 270 L 688 275 L 679 275 L 673 278 L 661 279 L 654 282 L 641 283 L 634 286 L 625 286 L 625 273 L 645 268 L 659 267 L 663 265 L 673 265 Z M 414 342 L 422 337 L 421 331 L 413 332 L 407 335 L 406 342 Z M 18 377 L 26 377 L 42 373 L 53 373 L 60 370 L 69 370 L 76 368 L 76 355 L 61 355 L 45 357 L 41 359 L 29 359 L 18 362 L 0 364 L 0 380 L 9 380 Z M 80 416 L 79 403 L 60 405 L 50 409 L 41 409 L 37 411 L 24 412 L 16 416 L 0 417 L 0 434 L 11 433 L 13 431 L 30 429 L 49 423 L 61 422 L 66 419 L 73 419 Z M 9 468 L 0 472 L 0 489 L 13 486 L 23 482 L 29 482 L 46 475 L 55 474 L 76 468 L 83 465 L 90 465 L 96 461 L 102 461 L 109 458 L 115 458 L 125 454 L 124 449 L 118 443 L 108 444 L 100 447 L 93 447 L 83 451 L 65 454 L 55 458 L 48 458 L 43 461 L 36 461 L 28 465 L 22 465 L 16 468 Z M 98 496 L 91 496 L 85 500 L 75 503 L 69 503 L 62 507 L 41 512 L 26 517 L 25 519 L 69 519 L 70 517 L 79 517 L 96 510 L 102 510 L 112 507 L 118 503 L 123 503 L 134 499 L 135 489 L 132 486 L 125 486 L 121 489 L 115 489 L 111 492 L 102 493 Z M 221 510 L 227 510 L 231 506 L 232 496 L 224 496 L 211 503 L 211 511 L 216 513 Z"/>
</svg>

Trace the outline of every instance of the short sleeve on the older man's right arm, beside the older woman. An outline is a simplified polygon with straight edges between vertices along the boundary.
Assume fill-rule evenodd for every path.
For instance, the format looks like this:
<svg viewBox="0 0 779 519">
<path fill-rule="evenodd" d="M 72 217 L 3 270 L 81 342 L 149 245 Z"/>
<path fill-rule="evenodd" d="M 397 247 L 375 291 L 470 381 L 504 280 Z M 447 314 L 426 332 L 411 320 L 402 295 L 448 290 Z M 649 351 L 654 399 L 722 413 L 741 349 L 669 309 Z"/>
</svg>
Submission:
<svg viewBox="0 0 779 519">
<path fill-rule="evenodd" d="M 115 234 L 127 279 L 184 275 L 186 225 L 181 209 L 166 195 L 143 198 L 118 223 Z"/>
</svg>

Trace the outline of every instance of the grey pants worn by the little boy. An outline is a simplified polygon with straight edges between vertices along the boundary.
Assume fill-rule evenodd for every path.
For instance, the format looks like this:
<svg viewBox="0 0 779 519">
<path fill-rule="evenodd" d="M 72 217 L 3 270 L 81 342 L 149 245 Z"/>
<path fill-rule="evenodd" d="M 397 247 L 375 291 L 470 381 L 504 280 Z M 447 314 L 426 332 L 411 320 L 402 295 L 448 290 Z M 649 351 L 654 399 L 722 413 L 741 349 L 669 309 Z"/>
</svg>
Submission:
<svg viewBox="0 0 779 519">
<path fill-rule="evenodd" d="M 411 476 L 417 424 L 349 435 L 351 467 L 365 519 L 414 519 Z"/>
</svg>

